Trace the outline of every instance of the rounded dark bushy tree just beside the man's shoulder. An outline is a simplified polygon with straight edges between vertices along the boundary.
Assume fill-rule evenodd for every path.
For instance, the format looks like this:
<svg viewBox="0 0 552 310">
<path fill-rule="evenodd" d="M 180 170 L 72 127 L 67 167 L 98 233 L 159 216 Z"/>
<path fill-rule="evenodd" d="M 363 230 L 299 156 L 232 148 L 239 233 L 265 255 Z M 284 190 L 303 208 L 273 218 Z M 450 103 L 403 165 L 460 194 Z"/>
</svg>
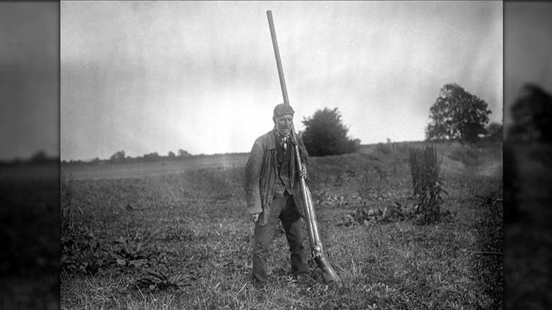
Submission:
<svg viewBox="0 0 552 310">
<path fill-rule="evenodd" d="M 316 110 L 314 115 L 303 119 L 305 131 L 301 137 L 311 156 L 326 156 L 352 153 L 360 140 L 347 138 L 349 131 L 341 122 L 338 108 Z"/>
</svg>

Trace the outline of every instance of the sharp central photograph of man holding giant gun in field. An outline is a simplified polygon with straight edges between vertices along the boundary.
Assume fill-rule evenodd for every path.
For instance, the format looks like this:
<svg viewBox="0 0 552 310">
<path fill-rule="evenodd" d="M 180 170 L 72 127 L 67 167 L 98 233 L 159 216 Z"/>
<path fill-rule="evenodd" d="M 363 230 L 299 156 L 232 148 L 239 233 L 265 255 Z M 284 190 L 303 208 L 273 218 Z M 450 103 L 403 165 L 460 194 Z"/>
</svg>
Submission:
<svg viewBox="0 0 552 310">
<path fill-rule="evenodd" d="M 502 309 L 501 1 L 62 1 L 62 309 Z"/>
</svg>

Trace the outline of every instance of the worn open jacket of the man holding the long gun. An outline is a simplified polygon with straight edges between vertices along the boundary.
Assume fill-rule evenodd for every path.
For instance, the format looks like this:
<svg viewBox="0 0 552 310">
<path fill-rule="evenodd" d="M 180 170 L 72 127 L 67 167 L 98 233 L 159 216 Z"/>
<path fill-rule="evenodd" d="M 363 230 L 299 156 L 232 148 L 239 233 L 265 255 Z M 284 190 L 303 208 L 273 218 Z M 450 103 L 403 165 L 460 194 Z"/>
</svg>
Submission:
<svg viewBox="0 0 552 310">
<path fill-rule="evenodd" d="M 301 163 L 308 168 L 309 153 L 305 149 L 303 139 L 299 135 L 296 135 L 296 137 L 297 144 L 299 144 L 299 154 L 301 154 Z M 294 142 L 292 144 L 295 145 Z M 299 211 L 301 217 L 304 217 L 301 187 L 299 185 L 299 169 L 295 161 L 295 153 L 292 153 L 289 163 L 292 192 L 297 211 Z M 270 130 L 270 132 L 258 137 L 255 144 L 253 144 L 253 149 L 251 149 L 246 164 L 246 177 L 243 185 L 246 190 L 248 214 L 260 213 L 258 224 L 261 226 L 265 225 L 270 217 L 277 177 L 276 138 L 274 132 Z"/>
</svg>

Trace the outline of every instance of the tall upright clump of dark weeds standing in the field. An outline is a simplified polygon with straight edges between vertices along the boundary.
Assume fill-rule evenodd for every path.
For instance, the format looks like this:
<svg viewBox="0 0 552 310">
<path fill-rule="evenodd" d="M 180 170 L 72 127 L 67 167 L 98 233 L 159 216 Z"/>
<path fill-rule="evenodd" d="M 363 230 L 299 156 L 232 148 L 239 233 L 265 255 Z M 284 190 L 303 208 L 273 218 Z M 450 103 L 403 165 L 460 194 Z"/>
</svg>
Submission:
<svg viewBox="0 0 552 310">
<path fill-rule="evenodd" d="M 419 202 L 418 210 L 422 214 L 423 224 L 439 222 L 442 193 L 449 195 L 442 188 L 444 179 L 442 162 L 443 157 L 438 159 L 437 149 L 433 145 L 426 145 L 422 149 L 408 149 L 413 197 Z"/>
</svg>

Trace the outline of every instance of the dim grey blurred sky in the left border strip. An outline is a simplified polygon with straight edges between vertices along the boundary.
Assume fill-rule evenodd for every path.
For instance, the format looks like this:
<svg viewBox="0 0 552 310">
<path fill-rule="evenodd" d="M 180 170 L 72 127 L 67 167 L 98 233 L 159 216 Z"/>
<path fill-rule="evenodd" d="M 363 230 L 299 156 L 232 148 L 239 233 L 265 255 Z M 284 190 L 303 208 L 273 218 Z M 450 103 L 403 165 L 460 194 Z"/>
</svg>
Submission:
<svg viewBox="0 0 552 310">
<path fill-rule="evenodd" d="M 59 155 L 59 3 L 0 2 L 0 160 Z"/>
</svg>

